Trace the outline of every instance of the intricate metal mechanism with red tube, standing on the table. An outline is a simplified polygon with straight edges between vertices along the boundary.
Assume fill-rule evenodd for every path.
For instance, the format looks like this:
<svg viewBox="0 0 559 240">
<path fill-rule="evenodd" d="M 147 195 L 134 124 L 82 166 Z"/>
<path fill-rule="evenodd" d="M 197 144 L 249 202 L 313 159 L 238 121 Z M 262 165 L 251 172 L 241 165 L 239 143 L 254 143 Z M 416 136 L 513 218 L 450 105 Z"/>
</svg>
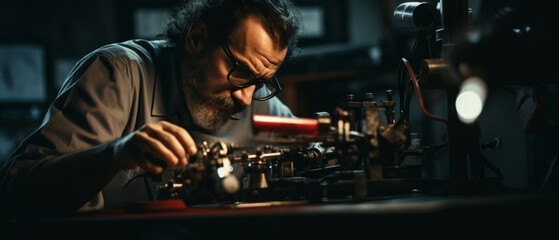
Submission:
<svg viewBox="0 0 559 240">
<path fill-rule="evenodd" d="M 397 119 L 392 92 L 386 93 L 381 104 L 372 93 L 366 94 L 363 101 L 348 99 L 352 104 L 344 105 L 347 109 L 318 112 L 314 118 L 254 115 L 256 133 L 276 133 L 279 139 L 255 146 L 202 144 L 196 159 L 163 185 L 160 199 L 182 198 L 188 206 L 237 206 L 363 201 L 417 191 L 452 193 L 448 182 L 422 176 L 424 156 L 444 144 L 422 146 L 417 135 L 409 133 L 409 124 Z M 244 175 L 237 178 L 234 167 L 242 168 Z"/>
</svg>

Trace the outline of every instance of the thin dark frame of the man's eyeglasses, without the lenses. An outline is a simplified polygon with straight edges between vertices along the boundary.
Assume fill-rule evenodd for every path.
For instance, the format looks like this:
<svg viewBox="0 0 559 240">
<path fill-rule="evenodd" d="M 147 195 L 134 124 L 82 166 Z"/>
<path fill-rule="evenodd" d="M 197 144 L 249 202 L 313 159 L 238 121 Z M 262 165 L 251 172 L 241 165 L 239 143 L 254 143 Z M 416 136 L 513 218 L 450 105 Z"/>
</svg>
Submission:
<svg viewBox="0 0 559 240">
<path fill-rule="evenodd" d="M 264 86 L 264 84 L 267 84 L 267 85 L 272 86 L 272 87 L 276 90 L 275 92 L 273 92 L 272 94 L 270 94 L 269 96 L 264 97 L 264 98 L 255 98 L 254 95 L 252 95 L 252 99 L 254 99 L 254 100 L 256 100 L 256 101 L 266 101 L 266 100 L 269 100 L 269 99 L 275 97 L 276 95 L 278 95 L 278 94 L 282 91 L 281 86 L 280 86 L 280 84 L 279 84 L 279 82 L 278 82 L 278 78 L 276 77 L 275 74 L 272 76 L 271 81 L 269 81 L 269 82 L 264 82 L 264 81 L 262 81 L 261 79 L 257 78 L 257 77 L 256 77 L 256 74 L 254 74 L 252 71 L 250 71 L 250 70 L 248 70 L 248 69 L 246 69 L 246 68 L 244 68 L 244 67 L 242 67 L 242 66 L 239 65 L 239 61 L 237 61 L 237 59 L 236 59 L 235 56 L 233 55 L 233 52 L 231 52 L 231 49 L 230 49 L 229 46 L 227 45 L 227 43 L 221 44 L 221 47 L 223 48 L 223 51 L 225 52 L 225 55 L 227 55 L 227 57 L 229 58 L 229 60 L 231 60 L 231 62 L 233 63 L 233 68 L 231 68 L 231 70 L 229 70 L 229 73 L 227 73 L 227 81 L 228 81 L 229 84 L 231 84 L 233 87 L 236 87 L 236 88 L 238 88 L 238 89 L 242 89 L 242 88 L 249 87 L 249 86 L 251 86 L 251 85 L 256 85 L 256 84 L 261 83 L 261 84 L 263 84 L 262 86 Z M 234 84 L 233 82 L 231 82 L 231 80 L 230 80 L 229 78 L 230 78 L 231 74 L 233 73 L 233 71 L 237 70 L 237 68 L 238 68 L 238 69 L 242 69 L 243 71 L 246 71 L 246 72 L 250 73 L 252 76 L 254 76 L 254 78 L 251 79 L 251 80 L 249 80 L 249 81 L 248 81 L 247 83 L 245 83 L 245 84 L 241 84 L 241 85 Z M 255 91 L 256 91 L 256 90 L 258 90 L 258 89 L 255 89 Z"/>
</svg>

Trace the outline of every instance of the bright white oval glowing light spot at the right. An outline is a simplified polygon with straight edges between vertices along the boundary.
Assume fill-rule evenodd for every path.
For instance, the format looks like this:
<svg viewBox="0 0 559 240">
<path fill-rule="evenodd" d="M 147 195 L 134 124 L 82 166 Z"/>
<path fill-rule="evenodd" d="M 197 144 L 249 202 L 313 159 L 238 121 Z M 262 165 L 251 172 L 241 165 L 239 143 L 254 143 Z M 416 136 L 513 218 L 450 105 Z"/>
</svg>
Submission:
<svg viewBox="0 0 559 240">
<path fill-rule="evenodd" d="M 487 96 L 487 86 L 479 77 L 471 77 L 462 83 L 456 97 L 456 112 L 463 123 L 473 123 L 481 114 Z"/>
</svg>

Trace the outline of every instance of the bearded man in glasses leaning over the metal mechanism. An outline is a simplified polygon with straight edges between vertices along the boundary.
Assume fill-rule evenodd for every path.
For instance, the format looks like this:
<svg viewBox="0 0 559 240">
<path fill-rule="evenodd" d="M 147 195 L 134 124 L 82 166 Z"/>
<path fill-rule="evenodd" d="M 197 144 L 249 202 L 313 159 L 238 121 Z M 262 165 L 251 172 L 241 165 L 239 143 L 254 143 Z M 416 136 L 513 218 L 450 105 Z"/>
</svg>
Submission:
<svg viewBox="0 0 559 240">
<path fill-rule="evenodd" d="M 2 209 L 72 213 L 147 200 L 143 184 L 125 188 L 140 172 L 184 167 L 202 141 L 249 140 L 252 114 L 292 116 L 274 74 L 296 43 L 297 19 L 287 0 L 189 1 L 166 40 L 90 53 L 2 168 Z"/>
</svg>

